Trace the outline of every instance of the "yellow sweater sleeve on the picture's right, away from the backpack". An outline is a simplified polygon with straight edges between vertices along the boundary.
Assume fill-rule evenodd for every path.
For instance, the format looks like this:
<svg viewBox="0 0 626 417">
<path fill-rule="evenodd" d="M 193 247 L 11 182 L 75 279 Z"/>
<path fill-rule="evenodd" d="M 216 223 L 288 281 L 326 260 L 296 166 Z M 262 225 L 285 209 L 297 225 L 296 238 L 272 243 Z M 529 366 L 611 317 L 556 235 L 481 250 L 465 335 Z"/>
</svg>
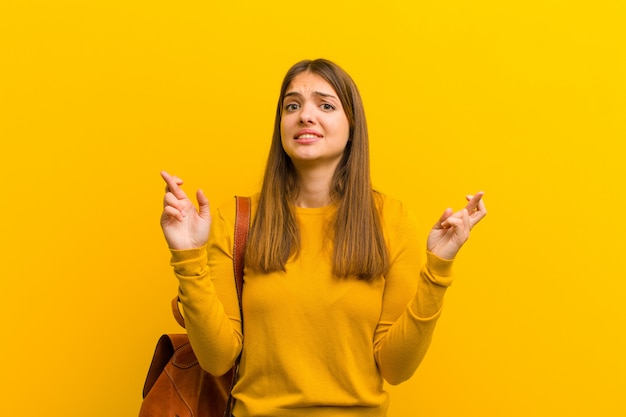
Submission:
<svg viewBox="0 0 626 417">
<path fill-rule="evenodd" d="M 409 379 L 426 355 L 452 283 L 452 261 L 427 252 L 421 265 L 416 221 L 404 209 L 388 245 L 391 267 L 385 276 L 374 354 L 383 378 L 395 385 Z"/>
</svg>

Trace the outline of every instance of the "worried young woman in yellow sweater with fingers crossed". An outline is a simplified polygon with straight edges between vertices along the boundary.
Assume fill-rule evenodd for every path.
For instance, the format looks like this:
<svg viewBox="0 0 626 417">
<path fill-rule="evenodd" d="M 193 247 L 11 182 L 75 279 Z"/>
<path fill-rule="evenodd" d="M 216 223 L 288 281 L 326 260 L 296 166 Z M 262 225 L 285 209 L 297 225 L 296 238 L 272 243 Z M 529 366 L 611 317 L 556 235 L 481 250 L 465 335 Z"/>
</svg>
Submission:
<svg viewBox="0 0 626 417">
<path fill-rule="evenodd" d="M 485 215 L 482 193 L 447 209 L 427 240 L 372 189 L 368 134 L 352 79 L 327 60 L 283 81 L 261 192 L 252 197 L 242 329 L 234 285 L 234 201 L 212 219 L 166 172 L 161 226 L 202 367 L 242 353 L 233 415 L 385 416 L 383 381 L 415 372 L 431 341 L 454 257 Z"/>
</svg>

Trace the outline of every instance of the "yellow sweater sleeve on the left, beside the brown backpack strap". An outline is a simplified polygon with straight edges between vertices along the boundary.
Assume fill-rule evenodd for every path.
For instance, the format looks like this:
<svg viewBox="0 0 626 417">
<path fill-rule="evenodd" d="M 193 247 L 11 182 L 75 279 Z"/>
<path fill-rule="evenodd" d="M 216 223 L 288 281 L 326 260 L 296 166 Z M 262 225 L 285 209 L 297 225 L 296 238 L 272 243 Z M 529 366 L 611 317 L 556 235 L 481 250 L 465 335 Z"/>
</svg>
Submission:
<svg viewBox="0 0 626 417">
<path fill-rule="evenodd" d="M 228 372 L 242 348 L 233 227 L 218 210 L 205 247 L 171 251 L 189 340 L 200 366 L 213 375 Z"/>
</svg>

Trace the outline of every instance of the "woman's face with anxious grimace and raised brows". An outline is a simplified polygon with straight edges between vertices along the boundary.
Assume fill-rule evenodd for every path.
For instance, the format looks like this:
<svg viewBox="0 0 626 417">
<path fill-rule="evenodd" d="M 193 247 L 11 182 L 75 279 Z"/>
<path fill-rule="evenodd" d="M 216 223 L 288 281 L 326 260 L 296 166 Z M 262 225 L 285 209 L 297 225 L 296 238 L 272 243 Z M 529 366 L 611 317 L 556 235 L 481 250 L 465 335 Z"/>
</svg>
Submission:
<svg viewBox="0 0 626 417">
<path fill-rule="evenodd" d="M 293 79 L 283 98 L 280 134 L 283 149 L 296 168 L 337 167 L 350 126 L 337 93 L 326 80 L 311 72 Z"/>
</svg>

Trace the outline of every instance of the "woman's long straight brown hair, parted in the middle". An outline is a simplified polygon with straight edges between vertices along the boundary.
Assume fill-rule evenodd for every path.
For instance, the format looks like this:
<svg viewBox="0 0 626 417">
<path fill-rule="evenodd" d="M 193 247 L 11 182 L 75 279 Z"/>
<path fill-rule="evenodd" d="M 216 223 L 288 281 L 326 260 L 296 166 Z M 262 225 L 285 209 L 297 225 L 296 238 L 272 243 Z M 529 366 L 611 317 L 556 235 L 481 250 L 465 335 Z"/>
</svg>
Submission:
<svg viewBox="0 0 626 417">
<path fill-rule="evenodd" d="M 330 198 L 337 206 L 332 230 L 333 273 L 363 280 L 379 277 L 388 269 L 389 255 L 379 219 L 376 193 L 372 189 L 369 139 L 361 96 L 352 78 L 325 59 L 306 60 L 289 69 L 283 80 L 274 134 L 257 214 L 250 229 L 246 264 L 270 273 L 285 270 L 290 256 L 297 256 L 300 234 L 293 202 L 298 196 L 298 175 L 282 147 L 280 124 L 283 100 L 292 80 L 303 72 L 326 80 L 337 93 L 348 118 L 350 138 L 335 170 Z"/>
</svg>

